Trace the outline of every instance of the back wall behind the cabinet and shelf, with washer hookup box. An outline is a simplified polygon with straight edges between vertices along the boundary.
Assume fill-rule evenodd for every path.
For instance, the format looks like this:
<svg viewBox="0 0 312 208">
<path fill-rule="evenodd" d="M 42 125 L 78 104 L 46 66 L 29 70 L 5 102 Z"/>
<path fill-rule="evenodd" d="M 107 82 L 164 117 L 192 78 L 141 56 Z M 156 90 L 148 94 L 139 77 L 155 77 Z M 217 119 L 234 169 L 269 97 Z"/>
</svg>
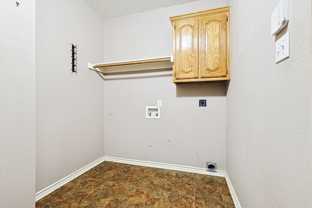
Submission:
<svg viewBox="0 0 312 208">
<path fill-rule="evenodd" d="M 105 20 L 105 62 L 172 55 L 169 17 L 225 6 L 204 0 Z M 225 84 L 178 85 L 172 69 L 104 76 L 105 155 L 226 170 Z M 160 119 L 145 106 L 162 99 Z M 198 107 L 207 99 L 207 107 Z"/>
</svg>

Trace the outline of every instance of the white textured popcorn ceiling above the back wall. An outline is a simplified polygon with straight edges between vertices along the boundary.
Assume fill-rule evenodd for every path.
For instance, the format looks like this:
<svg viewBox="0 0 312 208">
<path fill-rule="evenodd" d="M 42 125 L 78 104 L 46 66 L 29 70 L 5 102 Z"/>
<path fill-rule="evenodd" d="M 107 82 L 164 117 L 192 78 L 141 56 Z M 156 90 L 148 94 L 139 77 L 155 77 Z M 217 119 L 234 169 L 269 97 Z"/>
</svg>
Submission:
<svg viewBox="0 0 312 208">
<path fill-rule="evenodd" d="M 84 0 L 103 19 L 110 19 L 195 0 Z"/>
</svg>

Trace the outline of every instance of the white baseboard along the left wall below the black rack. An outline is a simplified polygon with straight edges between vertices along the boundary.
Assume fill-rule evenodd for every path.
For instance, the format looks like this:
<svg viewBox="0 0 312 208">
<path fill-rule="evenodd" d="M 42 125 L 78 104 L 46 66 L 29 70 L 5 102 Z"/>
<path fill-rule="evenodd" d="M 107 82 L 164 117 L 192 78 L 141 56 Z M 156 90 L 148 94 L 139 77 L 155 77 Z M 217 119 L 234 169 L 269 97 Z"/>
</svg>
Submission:
<svg viewBox="0 0 312 208">
<path fill-rule="evenodd" d="M 75 178 L 77 178 L 79 175 L 82 175 L 83 173 L 85 173 L 86 171 L 96 167 L 98 164 L 102 163 L 105 161 L 105 156 L 99 158 L 98 160 L 90 163 L 89 165 L 83 167 L 80 170 L 77 170 L 76 172 L 66 176 L 65 178 L 59 180 L 58 182 L 52 184 L 51 186 L 42 189 L 40 191 L 38 191 L 36 193 L 36 202 L 40 199 L 42 199 L 43 197 L 45 197 L 46 195 L 52 193 L 53 191 L 55 191 L 56 189 L 59 189 L 60 187 L 64 186 L 65 184 L 67 184 L 68 182 L 74 180 Z"/>
</svg>

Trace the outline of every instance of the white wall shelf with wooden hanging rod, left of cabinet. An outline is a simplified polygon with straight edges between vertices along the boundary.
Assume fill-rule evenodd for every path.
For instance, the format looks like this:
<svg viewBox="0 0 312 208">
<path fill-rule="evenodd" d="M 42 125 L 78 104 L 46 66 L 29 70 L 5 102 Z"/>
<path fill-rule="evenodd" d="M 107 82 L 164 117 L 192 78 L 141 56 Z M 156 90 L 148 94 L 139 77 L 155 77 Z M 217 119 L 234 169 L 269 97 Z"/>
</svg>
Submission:
<svg viewBox="0 0 312 208">
<path fill-rule="evenodd" d="M 174 57 L 159 57 L 131 61 L 119 61 L 110 63 L 88 63 L 88 69 L 106 74 L 116 72 L 134 72 L 143 70 L 168 69 L 172 68 Z"/>
</svg>

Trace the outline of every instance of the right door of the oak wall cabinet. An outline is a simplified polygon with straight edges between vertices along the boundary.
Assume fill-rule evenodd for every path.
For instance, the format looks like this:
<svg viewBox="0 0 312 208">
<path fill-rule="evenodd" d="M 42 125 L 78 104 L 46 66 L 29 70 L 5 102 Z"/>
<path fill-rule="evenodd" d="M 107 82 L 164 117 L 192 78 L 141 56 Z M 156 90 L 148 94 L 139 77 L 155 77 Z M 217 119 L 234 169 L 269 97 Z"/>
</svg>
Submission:
<svg viewBox="0 0 312 208">
<path fill-rule="evenodd" d="M 200 77 L 227 76 L 227 14 L 200 19 Z"/>
</svg>

